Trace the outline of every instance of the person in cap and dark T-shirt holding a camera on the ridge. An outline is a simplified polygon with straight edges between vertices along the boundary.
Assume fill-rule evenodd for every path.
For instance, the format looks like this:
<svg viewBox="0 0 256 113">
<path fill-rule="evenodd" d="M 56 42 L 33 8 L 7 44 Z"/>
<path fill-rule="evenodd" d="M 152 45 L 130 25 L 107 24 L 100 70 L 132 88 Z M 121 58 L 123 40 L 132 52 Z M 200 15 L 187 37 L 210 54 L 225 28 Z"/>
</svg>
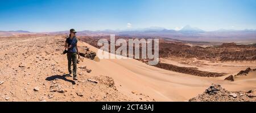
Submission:
<svg viewBox="0 0 256 113">
<path fill-rule="evenodd" d="M 70 29 L 70 34 L 67 40 L 65 41 L 65 49 L 68 49 L 67 57 L 68 57 L 68 72 L 69 76 L 72 77 L 72 70 L 71 70 L 71 62 L 73 63 L 73 80 L 77 80 L 77 56 L 79 56 L 79 49 L 77 47 L 77 38 L 76 38 L 76 31 L 75 29 Z"/>
</svg>

